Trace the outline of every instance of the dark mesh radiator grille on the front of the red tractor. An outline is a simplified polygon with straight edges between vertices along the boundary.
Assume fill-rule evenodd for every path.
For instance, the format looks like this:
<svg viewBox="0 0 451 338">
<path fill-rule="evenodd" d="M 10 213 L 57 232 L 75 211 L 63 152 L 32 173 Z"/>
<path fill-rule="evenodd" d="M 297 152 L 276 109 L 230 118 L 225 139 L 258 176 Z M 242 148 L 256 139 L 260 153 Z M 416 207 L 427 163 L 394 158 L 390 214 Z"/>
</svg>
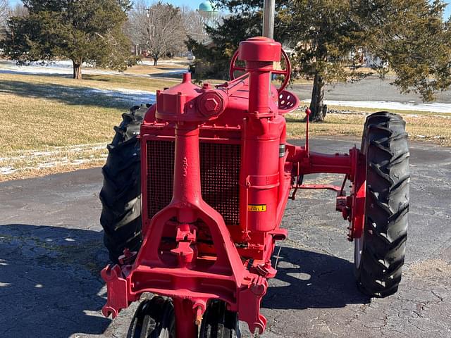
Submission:
<svg viewBox="0 0 451 338">
<path fill-rule="evenodd" d="M 147 142 L 147 212 L 149 218 L 172 199 L 174 142 Z M 221 213 L 227 225 L 240 222 L 241 149 L 239 144 L 201 142 L 202 197 Z"/>
</svg>

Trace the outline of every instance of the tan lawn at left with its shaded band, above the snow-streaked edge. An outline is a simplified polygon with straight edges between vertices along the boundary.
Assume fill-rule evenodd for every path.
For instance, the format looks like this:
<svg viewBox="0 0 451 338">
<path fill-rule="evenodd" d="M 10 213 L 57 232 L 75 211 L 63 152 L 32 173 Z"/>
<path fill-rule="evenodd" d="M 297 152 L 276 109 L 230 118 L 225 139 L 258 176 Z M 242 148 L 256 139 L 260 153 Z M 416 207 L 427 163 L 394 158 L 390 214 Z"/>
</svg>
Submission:
<svg viewBox="0 0 451 338">
<path fill-rule="evenodd" d="M 87 80 L 42 75 L 0 74 L 0 157 L 18 150 L 105 143 L 131 103 L 90 89 L 146 89 L 161 80 L 86 75 Z M 145 80 L 145 81 L 143 81 Z M 143 83 L 147 86 L 144 86 Z M 149 97 L 149 100 L 151 98 Z"/>
</svg>

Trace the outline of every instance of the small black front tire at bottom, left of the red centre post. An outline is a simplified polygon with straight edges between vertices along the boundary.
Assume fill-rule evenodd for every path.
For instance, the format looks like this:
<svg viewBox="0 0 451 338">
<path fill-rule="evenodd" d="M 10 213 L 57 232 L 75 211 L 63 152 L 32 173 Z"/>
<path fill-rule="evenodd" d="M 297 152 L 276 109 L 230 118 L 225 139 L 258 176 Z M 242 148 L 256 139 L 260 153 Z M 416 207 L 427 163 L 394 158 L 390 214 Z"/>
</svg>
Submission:
<svg viewBox="0 0 451 338">
<path fill-rule="evenodd" d="M 127 338 L 175 338 L 175 312 L 171 299 L 154 296 L 140 303 Z"/>
</svg>

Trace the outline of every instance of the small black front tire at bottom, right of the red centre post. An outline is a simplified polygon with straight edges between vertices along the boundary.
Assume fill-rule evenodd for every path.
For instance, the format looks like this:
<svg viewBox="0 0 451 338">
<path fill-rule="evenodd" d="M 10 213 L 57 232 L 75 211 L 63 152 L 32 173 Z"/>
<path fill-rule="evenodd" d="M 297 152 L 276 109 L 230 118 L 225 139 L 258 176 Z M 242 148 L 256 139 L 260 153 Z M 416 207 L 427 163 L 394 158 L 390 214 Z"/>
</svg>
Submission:
<svg viewBox="0 0 451 338">
<path fill-rule="evenodd" d="M 227 310 L 224 301 L 209 301 L 199 338 L 239 338 L 237 313 Z"/>
</svg>

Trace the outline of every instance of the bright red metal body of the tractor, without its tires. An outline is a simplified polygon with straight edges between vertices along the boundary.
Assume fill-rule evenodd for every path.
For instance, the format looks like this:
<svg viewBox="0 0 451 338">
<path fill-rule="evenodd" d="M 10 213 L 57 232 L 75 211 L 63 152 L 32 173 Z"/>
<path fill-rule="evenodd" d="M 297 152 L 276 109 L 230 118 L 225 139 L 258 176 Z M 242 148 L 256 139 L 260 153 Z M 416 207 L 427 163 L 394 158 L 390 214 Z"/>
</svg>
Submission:
<svg viewBox="0 0 451 338">
<path fill-rule="evenodd" d="M 288 144 L 283 114 L 299 99 L 271 84 L 281 55 L 272 39 L 248 39 L 236 54 L 245 75 L 199 87 L 185 74 L 182 83 L 157 92 L 140 133 L 144 241 L 138 253 L 126 251 L 120 264 L 102 270 L 104 315 L 116 317 L 144 292 L 168 296 L 178 337 L 192 338 L 208 301 L 221 299 L 251 332 L 262 333 L 261 299 L 277 272 L 276 241 L 288 236 L 280 223 L 292 189 L 293 197 L 297 189 L 337 192 L 350 237 L 362 233 L 364 156 L 355 148 L 311 152 L 308 131 L 305 146 Z M 345 182 L 302 185 L 299 177 L 313 173 L 345 175 L 350 196 Z"/>
</svg>

